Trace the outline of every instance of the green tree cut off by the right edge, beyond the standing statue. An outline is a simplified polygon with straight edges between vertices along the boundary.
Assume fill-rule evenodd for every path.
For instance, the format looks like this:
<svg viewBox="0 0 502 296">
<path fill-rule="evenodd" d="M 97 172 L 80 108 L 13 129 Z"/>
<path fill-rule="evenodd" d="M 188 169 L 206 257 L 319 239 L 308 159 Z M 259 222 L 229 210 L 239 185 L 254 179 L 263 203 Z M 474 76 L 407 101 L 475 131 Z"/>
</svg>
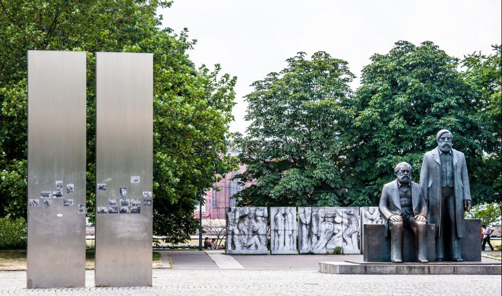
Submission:
<svg viewBox="0 0 502 296">
<path fill-rule="evenodd" d="M 465 79 L 478 89 L 481 107 L 480 117 L 485 125 L 491 126 L 496 139 L 496 147 L 491 153 L 483 155 L 483 168 L 480 178 L 484 182 L 484 190 L 481 192 L 481 200 L 498 200 L 502 192 L 502 46 L 492 45 L 494 53 L 485 56 L 481 53 L 473 53 L 465 57 L 462 66 L 467 70 L 464 72 Z M 494 197 L 494 198 L 492 198 Z"/>
</svg>

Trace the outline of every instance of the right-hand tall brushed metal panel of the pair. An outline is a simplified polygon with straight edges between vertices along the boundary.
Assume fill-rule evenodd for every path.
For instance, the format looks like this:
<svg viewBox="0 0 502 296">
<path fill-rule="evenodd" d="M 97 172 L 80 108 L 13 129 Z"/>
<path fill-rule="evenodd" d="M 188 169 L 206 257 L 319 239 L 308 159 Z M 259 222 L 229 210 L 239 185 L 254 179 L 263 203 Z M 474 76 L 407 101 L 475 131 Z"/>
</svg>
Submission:
<svg viewBox="0 0 502 296">
<path fill-rule="evenodd" d="M 153 55 L 96 53 L 96 285 L 152 285 L 152 153 Z"/>
</svg>

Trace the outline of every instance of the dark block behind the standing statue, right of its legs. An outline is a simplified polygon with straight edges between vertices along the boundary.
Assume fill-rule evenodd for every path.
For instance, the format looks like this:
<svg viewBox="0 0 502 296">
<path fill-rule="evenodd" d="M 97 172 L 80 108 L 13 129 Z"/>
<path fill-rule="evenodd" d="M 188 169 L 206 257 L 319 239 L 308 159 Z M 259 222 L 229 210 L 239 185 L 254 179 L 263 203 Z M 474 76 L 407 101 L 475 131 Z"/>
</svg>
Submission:
<svg viewBox="0 0 502 296">
<path fill-rule="evenodd" d="M 464 261 L 481 261 L 481 220 L 465 219 L 465 237 L 460 238 L 460 254 Z"/>
</svg>

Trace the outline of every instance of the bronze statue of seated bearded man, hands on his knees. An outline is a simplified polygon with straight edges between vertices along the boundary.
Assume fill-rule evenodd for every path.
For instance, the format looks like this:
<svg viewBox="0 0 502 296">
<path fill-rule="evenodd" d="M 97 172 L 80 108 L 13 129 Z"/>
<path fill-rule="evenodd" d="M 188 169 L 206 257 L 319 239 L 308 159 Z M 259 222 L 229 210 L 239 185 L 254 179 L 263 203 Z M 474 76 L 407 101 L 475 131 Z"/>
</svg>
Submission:
<svg viewBox="0 0 502 296">
<path fill-rule="evenodd" d="M 397 179 L 384 185 L 379 211 L 385 219 L 386 236 L 391 234 L 391 260 L 403 262 L 403 230 L 411 228 L 415 234 L 417 262 L 427 263 L 427 205 L 422 187 L 411 181 L 412 167 L 399 163 L 394 168 Z"/>
</svg>

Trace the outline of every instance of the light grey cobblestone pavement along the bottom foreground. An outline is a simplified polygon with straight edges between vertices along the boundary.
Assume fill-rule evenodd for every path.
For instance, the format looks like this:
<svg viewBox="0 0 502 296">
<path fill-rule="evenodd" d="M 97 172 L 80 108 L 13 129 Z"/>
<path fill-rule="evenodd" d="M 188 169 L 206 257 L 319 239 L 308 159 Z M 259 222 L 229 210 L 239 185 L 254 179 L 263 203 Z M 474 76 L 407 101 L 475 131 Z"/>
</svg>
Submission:
<svg viewBox="0 0 502 296">
<path fill-rule="evenodd" d="M 500 295 L 500 275 L 325 274 L 314 269 L 154 269 L 151 287 L 26 289 L 26 271 L 0 272 L 0 294 L 10 295 Z"/>
</svg>

